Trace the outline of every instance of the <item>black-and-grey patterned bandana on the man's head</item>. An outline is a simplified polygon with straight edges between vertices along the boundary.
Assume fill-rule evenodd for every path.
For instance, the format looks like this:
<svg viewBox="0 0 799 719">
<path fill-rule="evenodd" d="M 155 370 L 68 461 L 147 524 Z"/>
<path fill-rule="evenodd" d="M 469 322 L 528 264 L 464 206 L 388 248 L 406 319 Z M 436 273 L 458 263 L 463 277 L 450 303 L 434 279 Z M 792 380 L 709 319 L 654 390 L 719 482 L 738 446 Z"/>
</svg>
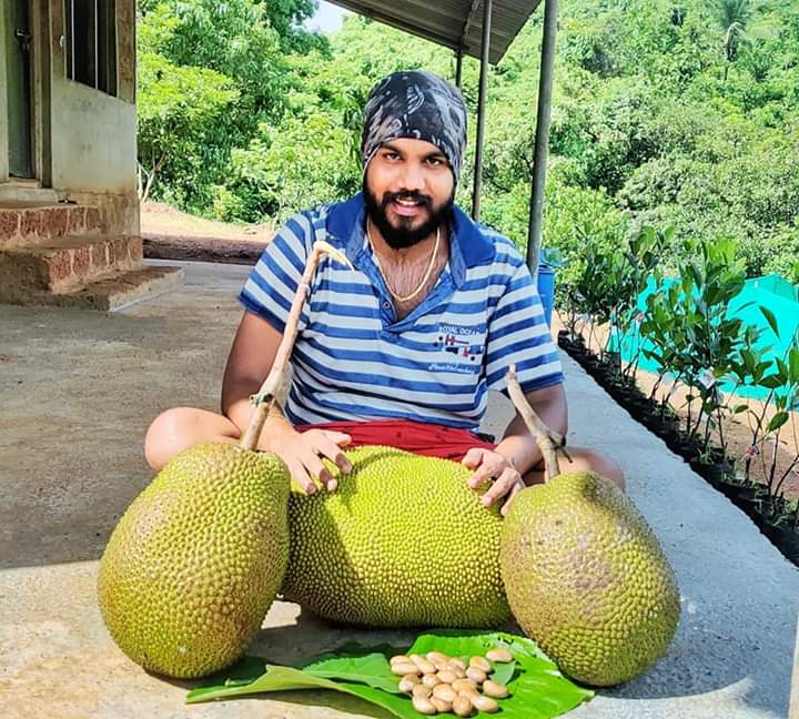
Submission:
<svg viewBox="0 0 799 719">
<path fill-rule="evenodd" d="M 457 183 L 466 148 L 466 105 L 461 90 L 425 71 L 395 72 L 381 80 L 364 110 L 364 172 L 375 152 L 396 138 L 436 145 L 449 161 Z"/>
</svg>

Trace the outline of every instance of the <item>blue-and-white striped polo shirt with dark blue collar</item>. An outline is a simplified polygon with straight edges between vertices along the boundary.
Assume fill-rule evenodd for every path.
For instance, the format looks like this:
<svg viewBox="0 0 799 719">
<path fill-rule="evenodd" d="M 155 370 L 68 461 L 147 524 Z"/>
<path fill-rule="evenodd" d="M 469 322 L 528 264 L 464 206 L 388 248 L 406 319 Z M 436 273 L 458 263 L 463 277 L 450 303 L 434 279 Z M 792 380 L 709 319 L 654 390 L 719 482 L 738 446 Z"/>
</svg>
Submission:
<svg viewBox="0 0 799 719">
<path fill-rule="evenodd" d="M 294 216 L 239 295 L 245 310 L 283 332 L 316 240 L 355 267 L 325 257 L 314 275 L 291 357 L 284 409 L 293 424 L 403 418 L 475 432 L 487 391 L 505 391 L 512 363 L 524 392 L 563 382 L 540 300 L 509 240 L 455 207 L 448 266 L 397 320 L 364 221 L 361 193 Z"/>
</svg>

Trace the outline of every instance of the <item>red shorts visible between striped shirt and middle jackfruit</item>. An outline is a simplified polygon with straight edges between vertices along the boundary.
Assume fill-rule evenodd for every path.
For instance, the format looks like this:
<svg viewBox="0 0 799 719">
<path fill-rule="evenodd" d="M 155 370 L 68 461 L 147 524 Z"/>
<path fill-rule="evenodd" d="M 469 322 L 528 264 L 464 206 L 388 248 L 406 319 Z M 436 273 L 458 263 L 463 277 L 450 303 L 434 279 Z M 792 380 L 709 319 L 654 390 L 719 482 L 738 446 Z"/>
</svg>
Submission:
<svg viewBox="0 0 799 719">
<path fill-rule="evenodd" d="M 494 449 L 493 442 L 467 429 L 443 425 L 411 422 L 409 419 L 374 419 L 371 422 L 325 422 L 315 425 L 297 425 L 299 432 L 307 429 L 331 429 L 352 437 L 347 447 L 362 445 L 386 445 L 426 455 L 461 462 L 472 447 Z"/>
</svg>

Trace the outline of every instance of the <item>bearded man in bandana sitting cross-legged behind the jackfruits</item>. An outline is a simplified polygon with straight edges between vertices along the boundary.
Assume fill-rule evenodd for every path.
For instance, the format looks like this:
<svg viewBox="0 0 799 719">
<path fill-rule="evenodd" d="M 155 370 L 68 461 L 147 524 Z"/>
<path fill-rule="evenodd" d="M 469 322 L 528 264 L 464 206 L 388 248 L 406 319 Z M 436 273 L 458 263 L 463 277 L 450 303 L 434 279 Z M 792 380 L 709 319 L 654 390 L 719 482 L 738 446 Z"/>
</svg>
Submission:
<svg viewBox="0 0 799 719">
<path fill-rule="evenodd" d="M 363 192 L 304 212 L 275 235 L 239 296 L 245 312 L 227 361 L 222 414 L 175 408 L 151 425 L 158 469 L 203 440 L 235 442 L 269 374 L 315 240 L 342 250 L 314 277 L 292 355 L 285 415 L 274 407 L 259 448 L 287 464 L 309 493 L 350 469 L 342 447 L 387 444 L 458 459 L 469 485 L 493 482 L 489 506 L 543 482 L 540 452 L 517 415 L 498 445 L 475 433 L 487 389 L 510 364 L 530 405 L 565 434 L 557 348 L 516 247 L 454 205 L 466 144 L 461 92 L 429 72 L 398 72 L 372 91 L 362 139 Z M 624 486 L 615 463 L 572 449 L 566 470 L 593 468 Z"/>
</svg>

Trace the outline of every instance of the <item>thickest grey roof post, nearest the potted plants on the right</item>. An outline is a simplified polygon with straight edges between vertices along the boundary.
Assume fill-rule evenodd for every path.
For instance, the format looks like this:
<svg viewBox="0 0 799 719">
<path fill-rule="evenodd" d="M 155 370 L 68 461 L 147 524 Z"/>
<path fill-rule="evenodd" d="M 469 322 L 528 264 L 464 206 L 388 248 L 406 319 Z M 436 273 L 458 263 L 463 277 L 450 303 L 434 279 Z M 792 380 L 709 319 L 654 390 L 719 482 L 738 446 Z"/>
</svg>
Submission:
<svg viewBox="0 0 799 719">
<path fill-rule="evenodd" d="M 552 118 L 552 88 L 555 73 L 555 34 L 557 32 L 557 0 L 546 0 L 544 7 L 544 40 L 538 81 L 538 114 L 536 118 L 535 156 L 533 161 L 533 190 L 527 231 L 527 266 L 535 283 L 538 275 L 538 255 L 544 222 L 544 189 L 549 150 L 549 120 Z"/>
</svg>

